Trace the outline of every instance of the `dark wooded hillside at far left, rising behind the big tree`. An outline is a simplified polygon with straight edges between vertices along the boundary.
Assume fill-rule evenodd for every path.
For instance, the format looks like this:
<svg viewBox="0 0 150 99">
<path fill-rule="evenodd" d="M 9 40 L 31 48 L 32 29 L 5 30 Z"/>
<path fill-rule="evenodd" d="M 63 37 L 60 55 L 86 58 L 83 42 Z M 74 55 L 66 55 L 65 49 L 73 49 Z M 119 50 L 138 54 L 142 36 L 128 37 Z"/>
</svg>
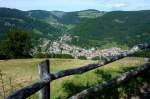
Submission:
<svg viewBox="0 0 150 99">
<path fill-rule="evenodd" d="M 26 12 L 17 9 L 0 8 L 0 37 L 3 37 L 11 28 L 30 30 L 35 38 L 46 37 L 53 39 L 60 32 L 59 29 L 50 24 L 29 17 Z"/>
</svg>

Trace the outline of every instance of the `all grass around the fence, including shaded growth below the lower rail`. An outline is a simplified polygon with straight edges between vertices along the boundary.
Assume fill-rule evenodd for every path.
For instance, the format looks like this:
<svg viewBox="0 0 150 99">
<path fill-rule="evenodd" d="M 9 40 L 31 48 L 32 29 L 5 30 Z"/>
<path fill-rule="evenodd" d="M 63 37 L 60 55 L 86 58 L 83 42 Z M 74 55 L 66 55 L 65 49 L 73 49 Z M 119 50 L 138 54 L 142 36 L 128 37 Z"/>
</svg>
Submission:
<svg viewBox="0 0 150 99">
<path fill-rule="evenodd" d="M 0 69 L 2 69 L 3 72 L 5 72 L 7 75 L 7 81 L 5 80 L 3 82 L 9 85 L 9 93 L 15 91 L 18 88 L 33 83 L 38 79 L 37 65 L 40 61 L 40 59 L 19 59 L 0 62 Z M 51 72 L 57 72 L 68 68 L 83 66 L 93 62 L 96 61 L 51 59 L 50 69 Z M 51 99 L 66 99 L 71 95 L 82 91 L 83 89 L 108 81 L 113 77 L 116 77 L 117 75 L 146 62 L 147 61 L 143 58 L 124 58 L 81 75 L 74 75 L 58 79 L 51 83 Z M 139 92 L 139 86 L 145 83 L 147 83 L 146 79 L 143 77 L 138 77 L 129 82 L 125 82 L 124 84 L 116 86 L 116 88 L 106 90 L 103 93 L 95 93 L 92 96 L 87 97 L 87 99 L 128 98 L 130 95 L 136 95 Z M 29 99 L 37 99 L 38 94 L 39 93 L 37 92 L 35 95 L 29 97 Z"/>
</svg>

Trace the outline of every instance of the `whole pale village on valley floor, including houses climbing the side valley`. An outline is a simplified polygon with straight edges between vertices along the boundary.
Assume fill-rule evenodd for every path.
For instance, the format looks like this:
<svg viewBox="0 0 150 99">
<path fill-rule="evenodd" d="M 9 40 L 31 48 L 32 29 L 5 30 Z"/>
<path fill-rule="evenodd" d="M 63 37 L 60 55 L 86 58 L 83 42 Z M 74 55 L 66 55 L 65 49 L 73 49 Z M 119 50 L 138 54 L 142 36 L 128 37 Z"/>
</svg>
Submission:
<svg viewBox="0 0 150 99">
<path fill-rule="evenodd" d="M 112 47 L 108 49 L 91 47 L 89 49 L 85 49 L 75 45 L 67 44 L 66 42 L 69 40 L 71 40 L 71 37 L 67 35 L 62 36 L 59 40 L 53 42 L 47 39 L 41 39 L 42 42 L 40 48 L 42 50 L 45 49 L 41 52 L 46 52 L 49 54 L 69 54 L 74 58 L 85 56 L 87 59 L 92 59 L 94 57 L 114 56 L 119 54 L 120 52 L 123 52 L 123 50 L 118 47 Z"/>
</svg>

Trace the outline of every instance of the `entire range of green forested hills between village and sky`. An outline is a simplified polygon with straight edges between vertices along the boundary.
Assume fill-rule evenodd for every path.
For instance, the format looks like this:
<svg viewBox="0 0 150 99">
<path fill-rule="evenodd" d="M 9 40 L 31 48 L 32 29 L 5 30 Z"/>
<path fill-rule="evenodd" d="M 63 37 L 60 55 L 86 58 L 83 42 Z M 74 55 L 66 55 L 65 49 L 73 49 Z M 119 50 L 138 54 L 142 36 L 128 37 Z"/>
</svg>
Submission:
<svg viewBox="0 0 150 99">
<path fill-rule="evenodd" d="M 56 40 L 62 35 L 68 43 L 89 47 L 130 47 L 150 41 L 150 11 L 112 11 L 93 9 L 63 12 L 0 8 L 0 38 L 11 28 L 32 31 L 33 40 Z"/>
</svg>

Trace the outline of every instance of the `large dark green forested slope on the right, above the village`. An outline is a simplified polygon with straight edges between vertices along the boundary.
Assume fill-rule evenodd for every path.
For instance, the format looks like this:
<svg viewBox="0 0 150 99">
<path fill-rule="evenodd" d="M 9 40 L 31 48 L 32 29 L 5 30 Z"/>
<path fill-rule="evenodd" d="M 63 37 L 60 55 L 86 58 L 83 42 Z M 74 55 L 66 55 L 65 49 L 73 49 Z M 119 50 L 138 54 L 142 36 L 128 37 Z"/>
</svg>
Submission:
<svg viewBox="0 0 150 99">
<path fill-rule="evenodd" d="M 150 42 L 150 11 L 109 12 L 78 24 L 68 33 L 73 37 L 71 44 L 82 47 Z"/>
</svg>

